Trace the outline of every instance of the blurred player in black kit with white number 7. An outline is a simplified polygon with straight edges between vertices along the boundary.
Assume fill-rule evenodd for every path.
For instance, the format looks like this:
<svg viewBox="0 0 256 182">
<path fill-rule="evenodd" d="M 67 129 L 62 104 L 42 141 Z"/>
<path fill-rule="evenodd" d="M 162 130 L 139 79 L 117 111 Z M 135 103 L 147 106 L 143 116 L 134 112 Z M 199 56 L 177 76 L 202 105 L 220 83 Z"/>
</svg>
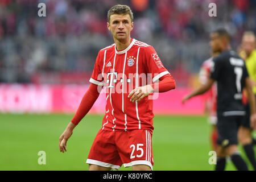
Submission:
<svg viewBox="0 0 256 182">
<path fill-rule="evenodd" d="M 238 170 L 248 170 L 246 163 L 238 151 L 238 128 L 245 116 L 245 106 L 242 103 L 242 90 L 246 88 L 250 109 L 251 127 L 256 129 L 255 98 L 245 62 L 236 52 L 229 49 L 230 36 L 224 29 L 218 29 L 210 34 L 210 46 L 220 55 L 214 57 L 210 77 L 204 85 L 183 98 L 183 103 L 199 94 L 203 94 L 217 82 L 217 164 L 216 170 L 224 170 L 226 156 L 230 156 Z"/>
</svg>

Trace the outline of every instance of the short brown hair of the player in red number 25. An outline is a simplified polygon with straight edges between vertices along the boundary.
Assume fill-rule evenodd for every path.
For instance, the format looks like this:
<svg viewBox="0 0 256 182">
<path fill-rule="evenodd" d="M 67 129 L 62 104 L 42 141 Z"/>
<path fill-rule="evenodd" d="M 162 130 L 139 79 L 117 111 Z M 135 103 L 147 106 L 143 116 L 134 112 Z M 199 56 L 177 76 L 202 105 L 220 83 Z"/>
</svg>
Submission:
<svg viewBox="0 0 256 182">
<path fill-rule="evenodd" d="M 108 11 L 108 22 L 110 23 L 110 16 L 113 14 L 126 15 L 129 14 L 131 22 L 133 22 L 133 12 L 127 5 L 115 5 Z"/>
</svg>

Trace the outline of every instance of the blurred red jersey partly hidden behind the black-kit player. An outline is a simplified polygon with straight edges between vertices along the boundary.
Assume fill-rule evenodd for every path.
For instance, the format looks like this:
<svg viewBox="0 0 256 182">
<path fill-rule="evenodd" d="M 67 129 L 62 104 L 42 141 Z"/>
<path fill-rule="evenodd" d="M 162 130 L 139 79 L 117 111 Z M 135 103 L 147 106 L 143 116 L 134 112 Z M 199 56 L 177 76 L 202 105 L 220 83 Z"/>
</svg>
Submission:
<svg viewBox="0 0 256 182">
<path fill-rule="evenodd" d="M 205 84 L 207 79 L 210 76 L 210 69 L 212 67 L 213 57 L 210 57 L 208 60 L 205 60 L 204 63 L 201 65 L 201 69 L 199 72 L 199 79 L 201 84 Z M 210 90 L 205 94 L 206 100 L 209 102 L 210 105 L 210 116 L 216 116 L 217 111 L 217 86 L 214 83 Z"/>
</svg>

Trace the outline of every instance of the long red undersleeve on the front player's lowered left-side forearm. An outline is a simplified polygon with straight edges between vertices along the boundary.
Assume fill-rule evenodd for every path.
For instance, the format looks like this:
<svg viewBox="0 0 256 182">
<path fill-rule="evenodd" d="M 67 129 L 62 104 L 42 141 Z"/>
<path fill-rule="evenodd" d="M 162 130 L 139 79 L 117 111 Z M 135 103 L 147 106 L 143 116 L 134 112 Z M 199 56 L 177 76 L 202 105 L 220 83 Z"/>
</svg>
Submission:
<svg viewBox="0 0 256 182">
<path fill-rule="evenodd" d="M 99 95 L 100 93 L 98 92 L 98 85 L 90 84 L 89 89 L 84 94 L 84 97 L 82 97 L 82 100 L 80 102 L 79 108 L 76 111 L 76 114 L 71 120 L 71 122 L 74 125 L 78 125 L 78 123 L 82 120 L 82 118 L 85 117 L 85 115 L 92 108 L 94 102 L 97 100 Z"/>
</svg>

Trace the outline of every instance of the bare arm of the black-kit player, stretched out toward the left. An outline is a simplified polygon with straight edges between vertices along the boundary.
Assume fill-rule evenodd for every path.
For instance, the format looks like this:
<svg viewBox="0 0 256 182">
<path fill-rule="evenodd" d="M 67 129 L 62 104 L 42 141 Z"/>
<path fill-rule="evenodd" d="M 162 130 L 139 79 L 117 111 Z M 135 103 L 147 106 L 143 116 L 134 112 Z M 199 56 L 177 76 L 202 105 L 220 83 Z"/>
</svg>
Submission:
<svg viewBox="0 0 256 182">
<path fill-rule="evenodd" d="M 189 93 L 187 96 L 185 96 L 182 100 L 182 103 L 184 104 L 185 101 L 189 100 L 192 97 L 199 96 L 205 92 L 207 92 L 212 85 L 214 84 L 214 81 L 212 78 L 208 78 L 205 84 L 199 86 L 199 88 L 193 90 L 191 93 Z"/>
</svg>

